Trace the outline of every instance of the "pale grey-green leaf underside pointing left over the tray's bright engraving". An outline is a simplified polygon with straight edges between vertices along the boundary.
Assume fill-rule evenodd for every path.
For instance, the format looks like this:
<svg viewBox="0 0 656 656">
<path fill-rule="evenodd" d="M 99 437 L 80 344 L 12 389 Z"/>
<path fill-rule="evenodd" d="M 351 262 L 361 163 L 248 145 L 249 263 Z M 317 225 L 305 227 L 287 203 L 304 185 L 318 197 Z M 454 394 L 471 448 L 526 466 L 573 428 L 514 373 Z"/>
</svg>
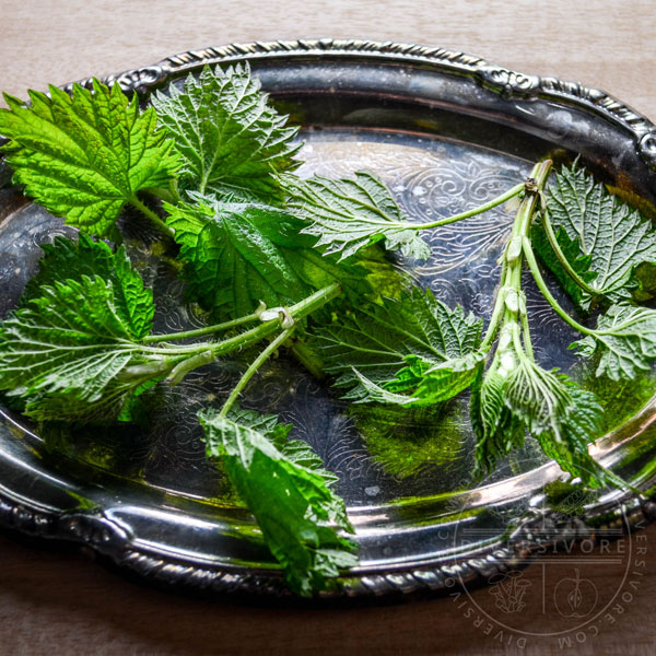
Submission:
<svg viewBox="0 0 656 656">
<path fill-rule="evenodd" d="M 348 258 L 361 248 L 385 242 L 388 250 L 417 259 L 427 259 L 429 245 L 408 227 L 399 206 L 387 187 L 366 171 L 353 179 L 330 179 L 316 175 L 308 179 L 283 178 L 290 198 L 286 208 L 308 219 L 305 234 L 318 237 L 316 246 L 326 254 Z"/>
</svg>

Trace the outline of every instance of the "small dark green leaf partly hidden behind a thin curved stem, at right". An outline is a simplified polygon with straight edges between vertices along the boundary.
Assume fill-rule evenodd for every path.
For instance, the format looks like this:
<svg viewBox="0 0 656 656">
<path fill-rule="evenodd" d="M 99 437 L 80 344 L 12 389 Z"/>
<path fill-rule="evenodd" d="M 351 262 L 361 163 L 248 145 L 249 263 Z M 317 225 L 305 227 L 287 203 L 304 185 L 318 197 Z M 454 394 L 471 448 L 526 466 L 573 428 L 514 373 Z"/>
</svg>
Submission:
<svg viewBox="0 0 656 656">
<path fill-rule="evenodd" d="M 574 270 L 574 272 L 586 283 L 591 283 L 598 277 L 596 271 L 590 271 L 593 258 L 590 255 L 583 255 L 578 246 L 578 239 L 571 239 L 563 227 L 559 227 L 555 239 L 560 246 L 565 259 Z M 576 303 L 582 309 L 587 309 L 591 298 L 586 294 L 572 277 L 567 273 L 561 261 L 558 259 L 547 233 L 541 224 L 536 224 L 531 231 L 531 245 L 542 261 L 557 277 L 570 298 Z"/>
</svg>

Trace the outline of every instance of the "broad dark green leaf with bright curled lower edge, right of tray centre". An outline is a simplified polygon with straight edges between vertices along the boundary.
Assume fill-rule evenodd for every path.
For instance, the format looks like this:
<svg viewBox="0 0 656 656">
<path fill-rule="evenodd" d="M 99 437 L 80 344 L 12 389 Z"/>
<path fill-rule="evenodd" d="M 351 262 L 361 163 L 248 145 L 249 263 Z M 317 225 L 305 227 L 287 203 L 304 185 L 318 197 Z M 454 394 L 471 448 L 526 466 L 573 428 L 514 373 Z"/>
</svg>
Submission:
<svg viewBox="0 0 656 656">
<path fill-rule="evenodd" d="M 340 316 L 315 343 L 326 372 L 339 376 L 336 385 L 351 388 L 344 398 L 430 405 L 471 383 L 482 362 L 475 355 L 481 330 L 482 319 L 414 288 L 399 301 Z"/>
</svg>

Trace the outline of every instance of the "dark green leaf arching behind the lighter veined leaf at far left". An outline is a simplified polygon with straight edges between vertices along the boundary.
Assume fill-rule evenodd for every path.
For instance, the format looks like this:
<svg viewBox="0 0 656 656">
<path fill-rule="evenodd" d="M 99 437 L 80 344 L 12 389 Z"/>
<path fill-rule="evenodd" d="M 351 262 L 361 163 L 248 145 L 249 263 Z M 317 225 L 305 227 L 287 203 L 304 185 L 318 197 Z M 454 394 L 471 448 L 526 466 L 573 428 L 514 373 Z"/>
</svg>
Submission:
<svg viewBox="0 0 656 656">
<path fill-rule="evenodd" d="M 94 242 L 84 233 L 77 242 L 56 237 L 54 244 L 44 244 L 38 273 L 30 280 L 21 305 L 42 295 L 44 286 L 54 286 L 63 280 L 82 281 L 83 277 L 98 276 L 112 283 L 113 302 L 120 319 L 129 327 L 134 339 L 150 333 L 153 324 L 153 293 L 143 285 L 141 276 L 132 271 L 124 246 L 113 254 L 107 244 Z"/>
</svg>

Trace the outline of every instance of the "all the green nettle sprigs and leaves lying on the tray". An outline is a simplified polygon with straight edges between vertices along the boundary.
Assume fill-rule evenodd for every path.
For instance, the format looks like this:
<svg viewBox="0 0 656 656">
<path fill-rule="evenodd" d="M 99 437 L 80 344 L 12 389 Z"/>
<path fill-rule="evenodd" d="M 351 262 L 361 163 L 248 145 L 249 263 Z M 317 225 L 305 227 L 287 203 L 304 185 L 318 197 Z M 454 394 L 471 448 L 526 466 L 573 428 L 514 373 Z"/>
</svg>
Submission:
<svg viewBox="0 0 656 656">
<path fill-rule="evenodd" d="M 72 96 L 50 87 L 49 96 L 32 92 L 30 105 L 5 101 L 0 134 L 10 139 L 14 181 L 80 232 L 43 247 L 39 272 L 3 321 L 0 389 L 38 421 L 130 421 L 153 385 L 266 344 L 224 405 L 198 419 L 208 457 L 221 460 L 295 591 L 320 589 L 356 558 L 340 535 L 352 527 L 336 477 L 289 437 L 290 425 L 237 406 L 283 345 L 335 376 L 356 403 L 434 406 L 470 387 L 479 472 L 529 433 L 585 483 L 622 484 L 588 455 L 602 411 L 595 396 L 536 363 L 522 291 L 528 266 L 583 335 L 574 345 L 597 359 L 597 375 L 632 378 L 656 359 L 656 312 L 635 304 L 648 297 L 644 267 L 656 262 L 656 233 L 582 168 L 562 169 L 547 190 L 551 164 L 540 163 L 525 185 L 481 208 L 417 224 L 371 173 L 295 176 L 297 129 L 267 104 L 247 68 L 206 69 L 157 93 L 144 112 L 97 81 Z M 419 231 L 514 196 L 522 202 L 483 333 L 481 318 L 413 286 L 386 251 L 426 258 Z M 152 335 L 151 290 L 124 246 L 97 238 L 120 243 L 126 204 L 177 243 L 189 297 L 219 323 Z M 596 328 L 559 306 L 536 251 L 581 313 L 606 311 Z"/>
</svg>

